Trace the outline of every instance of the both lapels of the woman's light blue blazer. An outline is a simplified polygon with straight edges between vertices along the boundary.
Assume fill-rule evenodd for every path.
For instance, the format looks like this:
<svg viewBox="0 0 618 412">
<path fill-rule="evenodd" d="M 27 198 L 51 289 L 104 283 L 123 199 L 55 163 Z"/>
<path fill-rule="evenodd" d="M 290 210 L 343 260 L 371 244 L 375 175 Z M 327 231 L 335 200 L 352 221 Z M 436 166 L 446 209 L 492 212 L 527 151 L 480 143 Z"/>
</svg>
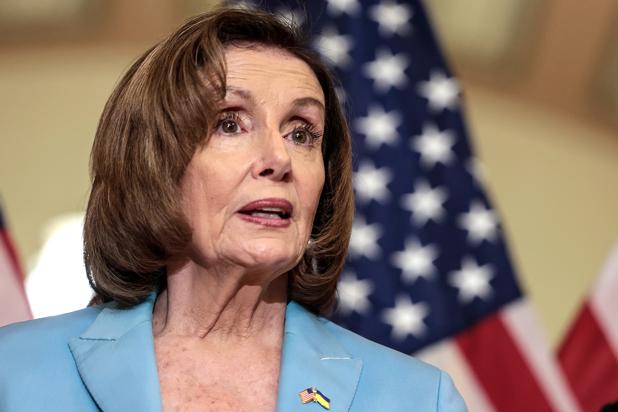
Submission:
<svg viewBox="0 0 618 412">
<path fill-rule="evenodd" d="M 103 412 L 162 411 L 152 333 L 155 298 L 151 293 L 131 309 L 106 304 L 86 332 L 69 340 L 77 370 Z M 331 411 L 349 410 L 363 363 L 324 323 L 294 301 L 287 305 L 277 412 L 322 410 L 301 403 L 298 392 L 309 387 L 331 398 Z"/>
</svg>

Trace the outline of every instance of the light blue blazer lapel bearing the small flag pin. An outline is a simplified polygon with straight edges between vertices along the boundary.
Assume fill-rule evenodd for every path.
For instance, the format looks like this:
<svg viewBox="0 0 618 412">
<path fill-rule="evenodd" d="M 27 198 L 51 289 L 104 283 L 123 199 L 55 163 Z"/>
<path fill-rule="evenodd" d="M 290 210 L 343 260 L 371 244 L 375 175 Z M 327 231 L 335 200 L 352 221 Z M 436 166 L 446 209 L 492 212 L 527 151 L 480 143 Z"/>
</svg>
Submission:
<svg viewBox="0 0 618 412">
<path fill-rule="evenodd" d="M 300 401 L 298 392 L 307 388 L 329 397 L 332 412 L 349 410 L 362 367 L 316 315 L 294 301 L 287 305 L 277 412 L 323 410 L 318 403 Z"/>
</svg>

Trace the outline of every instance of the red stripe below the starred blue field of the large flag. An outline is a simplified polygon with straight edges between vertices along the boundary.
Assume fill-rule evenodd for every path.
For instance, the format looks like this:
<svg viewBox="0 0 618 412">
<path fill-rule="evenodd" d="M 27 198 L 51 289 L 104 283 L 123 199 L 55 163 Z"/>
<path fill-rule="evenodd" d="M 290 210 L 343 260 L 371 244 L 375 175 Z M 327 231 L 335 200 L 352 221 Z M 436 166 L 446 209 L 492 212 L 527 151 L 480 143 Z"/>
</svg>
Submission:
<svg viewBox="0 0 618 412">
<path fill-rule="evenodd" d="M 498 412 L 552 412 L 499 312 L 455 337 Z"/>
</svg>

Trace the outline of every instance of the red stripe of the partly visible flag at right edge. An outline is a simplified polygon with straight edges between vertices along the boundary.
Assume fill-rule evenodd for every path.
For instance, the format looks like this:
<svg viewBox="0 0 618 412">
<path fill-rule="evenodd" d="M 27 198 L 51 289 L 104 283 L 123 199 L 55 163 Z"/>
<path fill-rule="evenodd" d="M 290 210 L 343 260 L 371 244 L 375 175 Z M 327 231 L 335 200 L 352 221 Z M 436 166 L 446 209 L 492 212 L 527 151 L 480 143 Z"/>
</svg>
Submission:
<svg viewBox="0 0 618 412">
<path fill-rule="evenodd" d="M 582 307 L 558 358 L 585 412 L 618 400 L 618 361 L 590 306 Z"/>
</svg>

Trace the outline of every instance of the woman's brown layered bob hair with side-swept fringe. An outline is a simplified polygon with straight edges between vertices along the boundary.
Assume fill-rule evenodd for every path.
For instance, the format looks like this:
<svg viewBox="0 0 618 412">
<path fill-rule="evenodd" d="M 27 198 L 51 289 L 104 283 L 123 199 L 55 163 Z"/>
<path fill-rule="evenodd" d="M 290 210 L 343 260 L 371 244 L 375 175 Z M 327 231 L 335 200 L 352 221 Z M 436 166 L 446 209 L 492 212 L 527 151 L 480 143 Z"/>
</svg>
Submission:
<svg viewBox="0 0 618 412">
<path fill-rule="evenodd" d="M 353 217 L 350 132 L 334 80 L 292 22 L 239 9 L 188 20 L 135 61 L 104 108 L 91 153 L 84 227 L 93 303 L 140 303 L 164 287 L 167 259 L 190 244 L 180 181 L 213 132 L 216 105 L 226 93 L 224 52 L 235 46 L 289 53 L 311 67 L 323 89 L 326 180 L 315 241 L 288 273 L 288 298 L 315 313 L 334 304 Z"/>
</svg>

